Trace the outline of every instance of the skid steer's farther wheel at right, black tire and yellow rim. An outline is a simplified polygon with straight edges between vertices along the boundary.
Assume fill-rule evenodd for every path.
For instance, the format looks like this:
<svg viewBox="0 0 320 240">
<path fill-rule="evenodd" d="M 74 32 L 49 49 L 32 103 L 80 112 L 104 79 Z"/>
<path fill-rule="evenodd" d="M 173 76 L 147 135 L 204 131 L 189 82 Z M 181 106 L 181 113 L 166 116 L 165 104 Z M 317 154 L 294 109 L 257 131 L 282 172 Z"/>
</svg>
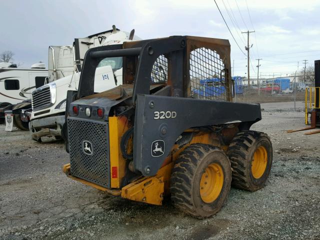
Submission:
<svg viewBox="0 0 320 240">
<path fill-rule="evenodd" d="M 232 168 L 232 186 L 248 191 L 264 186 L 272 165 L 272 144 L 266 133 L 238 132 L 229 144 L 227 155 Z"/>
</svg>

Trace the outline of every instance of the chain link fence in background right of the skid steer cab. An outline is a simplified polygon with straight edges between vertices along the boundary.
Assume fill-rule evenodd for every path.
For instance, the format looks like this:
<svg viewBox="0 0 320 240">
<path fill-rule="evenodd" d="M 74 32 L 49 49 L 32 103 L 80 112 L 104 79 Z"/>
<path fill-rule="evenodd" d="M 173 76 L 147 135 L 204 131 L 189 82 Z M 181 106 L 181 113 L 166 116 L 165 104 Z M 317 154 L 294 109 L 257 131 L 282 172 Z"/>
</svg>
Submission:
<svg viewBox="0 0 320 240">
<path fill-rule="evenodd" d="M 304 101 L 305 88 L 314 86 L 314 82 L 301 82 L 298 77 L 274 77 L 263 79 L 247 79 L 233 77 L 234 102 L 265 103 Z"/>
</svg>

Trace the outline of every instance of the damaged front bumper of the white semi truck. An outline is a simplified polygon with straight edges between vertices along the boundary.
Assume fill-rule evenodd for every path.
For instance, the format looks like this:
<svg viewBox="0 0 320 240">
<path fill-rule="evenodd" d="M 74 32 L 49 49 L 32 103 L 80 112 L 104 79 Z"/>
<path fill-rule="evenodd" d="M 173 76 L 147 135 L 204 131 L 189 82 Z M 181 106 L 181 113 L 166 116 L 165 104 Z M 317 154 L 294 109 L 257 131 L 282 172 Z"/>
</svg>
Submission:
<svg viewBox="0 0 320 240">
<path fill-rule="evenodd" d="M 64 115 L 31 120 L 29 122 L 29 130 L 32 138 L 38 140 L 41 136 L 61 136 L 61 128 L 64 120 Z"/>
</svg>

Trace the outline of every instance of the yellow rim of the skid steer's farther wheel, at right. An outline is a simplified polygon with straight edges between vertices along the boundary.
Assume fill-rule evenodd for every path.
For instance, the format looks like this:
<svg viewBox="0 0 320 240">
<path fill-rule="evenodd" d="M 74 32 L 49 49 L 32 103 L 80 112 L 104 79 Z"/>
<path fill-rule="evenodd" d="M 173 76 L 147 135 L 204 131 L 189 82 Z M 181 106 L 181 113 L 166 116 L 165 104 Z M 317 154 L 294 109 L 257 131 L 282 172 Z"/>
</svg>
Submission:
<svg viewBox="0 0 320 240">
<path fill-rule="evenodd" d="M 256 148 L 251 161 L 251 172 L 254 178 L 260 178 L 266 168 L 268 155 L 264 146 Z"/>
</svg>

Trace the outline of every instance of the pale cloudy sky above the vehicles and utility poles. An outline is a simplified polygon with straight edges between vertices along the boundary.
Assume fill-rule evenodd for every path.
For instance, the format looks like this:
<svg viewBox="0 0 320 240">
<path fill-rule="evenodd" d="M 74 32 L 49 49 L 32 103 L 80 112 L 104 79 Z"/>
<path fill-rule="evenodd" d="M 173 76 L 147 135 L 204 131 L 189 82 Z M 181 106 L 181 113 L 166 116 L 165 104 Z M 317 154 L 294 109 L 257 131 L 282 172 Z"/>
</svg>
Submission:
<svg viewBox="0 0 320 240">
<path fill-rule="evenodd" d="M 246 76 L 250 33 L 250 76 L 290 75 L 303 60 L 320 59 L 319 0 L 10 0 L 0 1 L 0 52 L 14 52 L 23 67 L 47 65 L 49 45 L 71 45 L 76 37 L 117 28 L 135 29 L 143 39 L 196 35 L 229 39 L 233 75 Z M 237 46 L 237 44 L 239 47 Z M 299 62 L 299 63 L 298 63 Z"/>
</svg>

